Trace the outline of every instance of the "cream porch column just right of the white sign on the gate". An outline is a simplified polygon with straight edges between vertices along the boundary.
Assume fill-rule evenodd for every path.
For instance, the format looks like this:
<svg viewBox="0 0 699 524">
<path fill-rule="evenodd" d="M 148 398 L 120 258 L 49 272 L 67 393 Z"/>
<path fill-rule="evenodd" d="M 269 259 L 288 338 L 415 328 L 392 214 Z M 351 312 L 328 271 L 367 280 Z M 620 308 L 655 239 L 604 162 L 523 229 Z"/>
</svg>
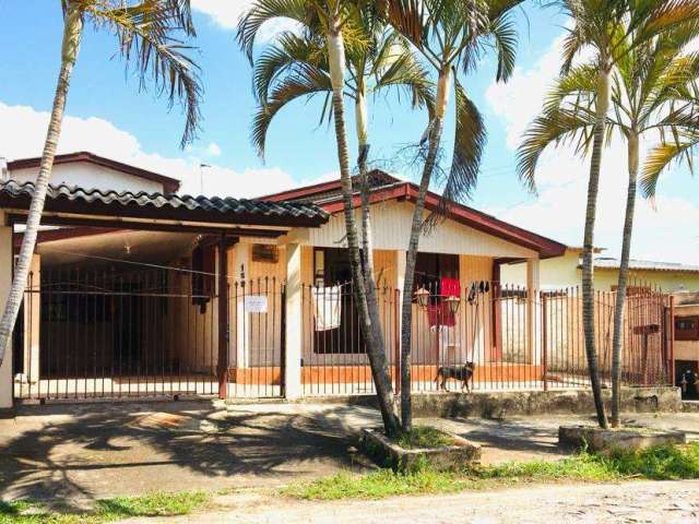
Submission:
<svg viewBox="0 0 699 524">
<path fill-rule="evenodd" d="M 284 319 L 284 396 L 299 398 L 301 386 L 303 331 L 301 246 L 286 245 L 286 319 Z"/>
</svg>

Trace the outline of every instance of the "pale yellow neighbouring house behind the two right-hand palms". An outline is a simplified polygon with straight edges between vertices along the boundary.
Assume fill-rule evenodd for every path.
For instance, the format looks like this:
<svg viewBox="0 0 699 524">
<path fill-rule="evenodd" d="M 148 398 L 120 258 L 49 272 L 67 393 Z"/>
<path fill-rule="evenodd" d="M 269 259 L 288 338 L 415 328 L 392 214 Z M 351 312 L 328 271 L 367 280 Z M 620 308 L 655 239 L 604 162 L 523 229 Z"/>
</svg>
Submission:
<svg viewBox="0 0 699 524">
<path fill-rule="evenodd" d="M 595 249 L 594 286 L 600 291 L 615 290 L 619 277 L 619 260 L 600 257 Z M 581 285 L 582 248 L 566 248 L 562 257 L 542 261 L 542 289 L 560 289 Z M 502 283 L 524 285 L 526 264 L 514 262 L 502 266 Z M 663 291 L 699 290 L 699 266 L 672 262 L 631 260 L 629 262 L 630 286 L 656 286 Z"/>
</svg>

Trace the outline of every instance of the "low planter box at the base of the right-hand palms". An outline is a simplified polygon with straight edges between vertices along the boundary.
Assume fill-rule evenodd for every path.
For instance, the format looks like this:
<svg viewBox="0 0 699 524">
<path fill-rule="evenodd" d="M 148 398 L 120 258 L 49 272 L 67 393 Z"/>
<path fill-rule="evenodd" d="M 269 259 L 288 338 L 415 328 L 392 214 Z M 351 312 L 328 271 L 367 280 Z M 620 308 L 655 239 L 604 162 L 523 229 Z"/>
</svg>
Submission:
<svg viewBox="0 0 699 524">
<path fill-rule="evenodd" d="M 684 444 L 687 436 L 682 431 L 621 428 L 602 429 L 591 426 L 560 426 L 558 428 L 558 445 L 581 449 L 587 446 L 592 452 L 617 450 L 638 450 L 653 445 Z"/>
</svg>

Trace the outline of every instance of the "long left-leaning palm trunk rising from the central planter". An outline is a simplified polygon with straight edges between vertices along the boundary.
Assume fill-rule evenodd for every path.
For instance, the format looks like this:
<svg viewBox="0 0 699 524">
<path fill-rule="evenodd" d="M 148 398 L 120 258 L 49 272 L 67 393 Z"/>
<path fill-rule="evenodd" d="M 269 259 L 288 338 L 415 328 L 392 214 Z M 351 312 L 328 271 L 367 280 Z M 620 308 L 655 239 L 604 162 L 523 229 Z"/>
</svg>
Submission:
<svg viewBox="0 0 699 524">
<path fill-rule="evenodd" d="M 350 174 L 350 155 L 347 148 L 343 100 L 345 53 L 342 33 L 339 29 L 331 31 L 328 38 L 328 56 L 333 86 L 332 104 L 335 121 L 335 140 L 337 142 L 337 159 L 340 163 L 340 179 L 342 182 L 350 265 L 352 267 L 352 278 L 354 281 L 353 287 L 356 296 L 362 329 L 367 338 L 369 365 L 371 366 L 371 374 L 374 383 L 376 384 L 377 398 L 379 402 L 381 417 L 383 419 L 383 427 L 388 434 L 395 434 L 399 431 L 399 421 L 394 409 L 393 388 L 391 386 L 391 377 L 386 359 L 386 350 L 383 350 L 381 324 L 380 321 L 372 321 L 375 314 L 370 312 L 370 306 L 367 299 L 367 287 L 365 285 L 362 261 L 359 258 L 359 243 L 357 237 L 357 225 L 354 217 L 352 176 Z M 376 318 L 379 319 L 380 317 L 378 314 L 376 297 L 372 302 L 377 310 Z"/>
</svg>

